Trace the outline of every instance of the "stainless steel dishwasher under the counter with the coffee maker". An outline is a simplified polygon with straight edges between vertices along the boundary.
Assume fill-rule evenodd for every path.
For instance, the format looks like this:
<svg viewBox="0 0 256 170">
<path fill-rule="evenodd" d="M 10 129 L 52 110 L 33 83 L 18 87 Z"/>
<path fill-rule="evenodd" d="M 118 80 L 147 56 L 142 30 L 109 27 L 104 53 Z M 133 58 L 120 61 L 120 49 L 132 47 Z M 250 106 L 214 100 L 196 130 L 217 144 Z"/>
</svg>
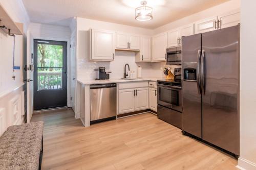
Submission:
<svg viewBox="0 0 256 170">
<path fill-rule="evenodd" d="M 116 83 L 90 85 L 91 124 L 116 118 Z"/>
</svg>

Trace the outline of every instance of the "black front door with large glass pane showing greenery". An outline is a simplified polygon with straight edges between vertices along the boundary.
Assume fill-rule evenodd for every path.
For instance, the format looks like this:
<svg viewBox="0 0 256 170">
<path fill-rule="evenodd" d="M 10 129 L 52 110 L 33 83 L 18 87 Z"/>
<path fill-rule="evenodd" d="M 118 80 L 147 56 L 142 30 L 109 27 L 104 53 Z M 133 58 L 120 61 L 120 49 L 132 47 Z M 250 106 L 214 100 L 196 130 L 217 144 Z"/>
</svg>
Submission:
<svg viewBox="0 0 256 170">
<path fill-rule="evenodd" d="M 34 110 L 67 106 L 67 42 L 34 40 Z"/>
</svg>

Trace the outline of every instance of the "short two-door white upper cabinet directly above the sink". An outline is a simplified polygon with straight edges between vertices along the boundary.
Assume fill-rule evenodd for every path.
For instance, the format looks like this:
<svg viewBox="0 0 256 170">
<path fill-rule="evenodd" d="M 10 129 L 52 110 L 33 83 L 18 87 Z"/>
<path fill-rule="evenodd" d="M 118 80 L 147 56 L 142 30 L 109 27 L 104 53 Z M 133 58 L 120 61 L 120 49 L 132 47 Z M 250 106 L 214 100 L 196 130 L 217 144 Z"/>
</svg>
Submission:
<svg viewBox="0 0 256 170">
<path fill-rule="evenodd" d="M 140 36 L 117 32 L 116 48 L 140 50 Z"/>
</svg>

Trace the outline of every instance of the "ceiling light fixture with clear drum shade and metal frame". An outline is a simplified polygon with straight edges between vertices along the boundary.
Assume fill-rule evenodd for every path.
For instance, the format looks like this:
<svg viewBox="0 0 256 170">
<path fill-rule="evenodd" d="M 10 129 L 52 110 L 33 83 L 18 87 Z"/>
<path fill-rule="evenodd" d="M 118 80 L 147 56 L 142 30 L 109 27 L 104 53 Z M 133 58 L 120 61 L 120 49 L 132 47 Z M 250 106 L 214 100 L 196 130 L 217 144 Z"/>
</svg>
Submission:
<svg viewBox="0 0 256 170">
<path fill-rule="evenodd" d="M 143 6 L 135 9 L 135 19 L 137 19 L 139 21 L 151 20 L 153 18 L 152 8 L 146 6 L 146 4 L 147 4 L 146 1 L 141 1 L 140 4 Z"/>
</svg>

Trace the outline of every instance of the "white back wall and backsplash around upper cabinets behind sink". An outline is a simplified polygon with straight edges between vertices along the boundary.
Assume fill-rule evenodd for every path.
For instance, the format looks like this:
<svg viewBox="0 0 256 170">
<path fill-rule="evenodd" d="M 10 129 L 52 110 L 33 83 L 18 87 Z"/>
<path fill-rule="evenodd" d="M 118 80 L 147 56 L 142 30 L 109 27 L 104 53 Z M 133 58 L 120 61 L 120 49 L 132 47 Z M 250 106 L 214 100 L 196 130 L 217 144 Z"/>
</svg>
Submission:
<svg viewBox="0 0 256 170">
<path fill-rule="evenodd" d="M 106 70 L 112 71 L 110 78 L 117 79 L 123 77 L 124 65 L 128 63 L 131 70 L 137 71 L 139 65 L 142 66 L 142 77 L 162 77 L 161 67 L 164 67 L 164 62 L 160 63 L 135 63 L 134 52 L 116 51 L 115 60 L 106 61 L 89 61 L 89 29 L 104 29 L 114 30 L 117 32 L 135 33 L 141 35 L 153 35 L 153 30 L 119 25 L 117 23 L 103 22 L 92 19 L 77 18 L 77 77 L 78 79 L 94 79 L 96 72 L 95 68 L 105 66 Z M 150 73 L 150 74 L 149 74 Z"/>
</svg>

